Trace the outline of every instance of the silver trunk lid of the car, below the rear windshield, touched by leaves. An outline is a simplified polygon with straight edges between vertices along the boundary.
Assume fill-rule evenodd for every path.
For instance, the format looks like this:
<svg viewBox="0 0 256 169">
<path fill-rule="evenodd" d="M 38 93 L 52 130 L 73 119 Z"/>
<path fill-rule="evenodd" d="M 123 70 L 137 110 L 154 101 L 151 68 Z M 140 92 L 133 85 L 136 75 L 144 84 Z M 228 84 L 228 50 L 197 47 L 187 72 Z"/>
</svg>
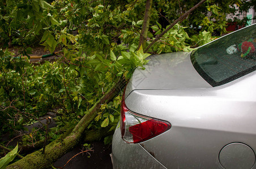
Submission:
<svg viewBox="0 0 256 169">
<path fill-rule="evenodd" d="M 148 59 L 145 70 L 135 69 L 125 97 L 133 90 L 212 87 L 194 69 L 190 52 L 152 55 Z"/>
</svg>

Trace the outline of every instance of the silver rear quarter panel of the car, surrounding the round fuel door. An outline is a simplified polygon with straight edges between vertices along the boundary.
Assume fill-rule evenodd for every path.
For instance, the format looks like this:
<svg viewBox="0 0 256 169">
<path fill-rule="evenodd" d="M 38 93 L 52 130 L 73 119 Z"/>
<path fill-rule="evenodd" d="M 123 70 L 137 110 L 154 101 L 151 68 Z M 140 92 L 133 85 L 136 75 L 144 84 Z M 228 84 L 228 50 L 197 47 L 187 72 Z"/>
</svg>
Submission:
<svg viewBox="0 0 256 169">
<path fill-rule="evenodd" d="M 134 90 L 125 102 L 131 112 L 172 124 L 141 143 L 165 167 L 222 168 L 223 146 L 238 142 L 256 150 L 255 86 L 253 72 L 213 88 Z"/>
</svg>

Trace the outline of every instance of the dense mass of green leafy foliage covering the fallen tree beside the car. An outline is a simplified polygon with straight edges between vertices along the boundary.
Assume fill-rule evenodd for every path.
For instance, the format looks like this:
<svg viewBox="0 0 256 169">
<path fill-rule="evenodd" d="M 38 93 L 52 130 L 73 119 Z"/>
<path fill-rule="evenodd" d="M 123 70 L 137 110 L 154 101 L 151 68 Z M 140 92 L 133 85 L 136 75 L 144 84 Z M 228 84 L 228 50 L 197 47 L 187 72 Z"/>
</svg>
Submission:
<svg viewBox="0 0 256 169">
<path fill-rule="evenodd" d="M 0 135 L 21 130 L 57 109 L 54 118 L 57 127 L 49 131 L 47 124 L 41 130 L 33 128 L 23 137 L 23 143 L 56 140 L 62 129 L 74 126 L 117 78 L 129 79 L 135 68 L 144 69 L 150 54 L 137 48 L 145 2 L 56 0 L 49 4 L 43 0 L 5 0 L 1 3 Z M 224 30 L 223 14 L 228 12 L 227 6 L 238 1 L 215 2 L 208 1 L 176 24 L 153 45 L 150 53 L 191 51 L 190 46 L 210 42 L 214 29 Z M 169 23 L 161 20 L 163 16 L 173 21 L 195 2 L 156 0 L 154 4 L 146 45 L 168 28 Z M 206 16 L 207 12 L 211 15 Z M 190 25 L 201 25 L 202 31 L 191 34 Z M 10 42 L 23 47 L 17 57 L 8 51 Z M 49 52 L 60 47 L 62 57 L 54 63 L 32 65 L 21 56 L 31 54 L 33 44 L 45 46 Z M 120 103 L 121 96 L 103 103 L 88 128 L 111 126 L 109 131 L 114 130 L 120 119 Z M 106 137 L 105 143 L 110 143 L 111 138 Z"/>
</svg>

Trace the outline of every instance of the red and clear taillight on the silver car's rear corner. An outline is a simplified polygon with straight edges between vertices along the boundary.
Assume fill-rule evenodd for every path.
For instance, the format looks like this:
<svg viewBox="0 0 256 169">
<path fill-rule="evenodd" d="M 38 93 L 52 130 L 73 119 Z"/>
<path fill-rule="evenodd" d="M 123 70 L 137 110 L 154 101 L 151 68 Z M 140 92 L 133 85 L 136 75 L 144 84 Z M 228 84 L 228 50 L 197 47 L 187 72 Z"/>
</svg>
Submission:
<svg viewBox="0 0 256 169">
<path fill-rule="evenodd" d="M 169 130 L 170 123 L 131 112 L 123 95 L 120 128 L 126 143 L 140 143 Z"/>
</svg>

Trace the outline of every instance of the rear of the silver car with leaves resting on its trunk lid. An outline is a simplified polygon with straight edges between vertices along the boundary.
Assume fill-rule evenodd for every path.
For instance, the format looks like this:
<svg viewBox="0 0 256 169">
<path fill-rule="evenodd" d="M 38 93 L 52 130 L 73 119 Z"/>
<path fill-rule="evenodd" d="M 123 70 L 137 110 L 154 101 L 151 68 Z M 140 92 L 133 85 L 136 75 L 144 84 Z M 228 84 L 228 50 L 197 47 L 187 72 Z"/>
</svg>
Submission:
<svg viewBox="0 0 256 169">
<path fill-rule="evenodd" d="M 256 24 L 137 68 L 113 168 L 256 168 Z"/>
</svg>

